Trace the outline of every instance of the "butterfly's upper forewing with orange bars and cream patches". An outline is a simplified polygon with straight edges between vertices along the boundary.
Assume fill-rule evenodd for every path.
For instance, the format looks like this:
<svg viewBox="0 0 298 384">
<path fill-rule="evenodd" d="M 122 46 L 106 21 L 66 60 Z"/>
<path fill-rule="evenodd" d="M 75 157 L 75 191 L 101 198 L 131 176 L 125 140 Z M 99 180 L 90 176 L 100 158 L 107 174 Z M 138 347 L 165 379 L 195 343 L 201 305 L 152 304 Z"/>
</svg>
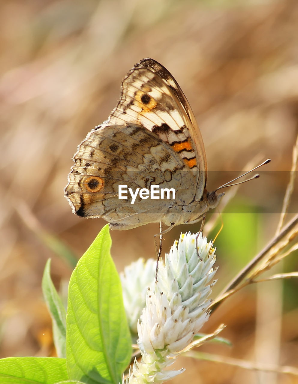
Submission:
<svg viewBox="0 0 298 384">
<path fill-rule="evenodd" d="M 123 80 L 121 99 L 108 124 L 137 122 L 179 154 L 196 178 L 200 200 L 207 183 L 207 161 L 194 113 L 177 81 L 161 64 L 143 59 Z"/>
</svg>

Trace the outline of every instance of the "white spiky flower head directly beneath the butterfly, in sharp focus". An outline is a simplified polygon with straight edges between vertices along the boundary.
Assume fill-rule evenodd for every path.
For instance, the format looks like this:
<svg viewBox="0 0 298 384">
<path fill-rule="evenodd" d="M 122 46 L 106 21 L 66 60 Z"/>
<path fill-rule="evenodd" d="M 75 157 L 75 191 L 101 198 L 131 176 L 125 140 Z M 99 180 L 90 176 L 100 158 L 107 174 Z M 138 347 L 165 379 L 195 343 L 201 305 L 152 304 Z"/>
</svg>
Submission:
<svg viewBox="0 0 298 384">
<path fill-rule="evenodd" d="M 126 383 L 161 383 L 179 371 L 166 368 L 174 362 L 207 321 L 208 299 L 215 281 L 215 248 L 200 233 L 185 233 L 175 241 L 165 265 L 159 264 L 157 282 L 147 288 L 146 308 L 137 325 L 141 362 L 134 362 Z M 178 247 L 177 247 L 178 246 Z M 201 260 L 200 260 L 201 259 Z"/>
</svg>

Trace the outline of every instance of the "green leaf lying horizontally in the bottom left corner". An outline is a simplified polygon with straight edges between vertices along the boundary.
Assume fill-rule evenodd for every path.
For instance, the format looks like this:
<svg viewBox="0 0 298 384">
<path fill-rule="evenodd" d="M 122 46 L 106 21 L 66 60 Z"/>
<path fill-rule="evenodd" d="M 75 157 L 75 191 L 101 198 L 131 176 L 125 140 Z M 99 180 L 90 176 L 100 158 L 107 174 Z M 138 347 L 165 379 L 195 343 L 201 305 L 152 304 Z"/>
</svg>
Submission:
<svg viewBox="0 0 298 384">
<path fill-rule="evenodd" d="M 56 384 L 67 379 L 65 359 L 13 357 L 0 360 L 1 384 Z"/>
</svg>

